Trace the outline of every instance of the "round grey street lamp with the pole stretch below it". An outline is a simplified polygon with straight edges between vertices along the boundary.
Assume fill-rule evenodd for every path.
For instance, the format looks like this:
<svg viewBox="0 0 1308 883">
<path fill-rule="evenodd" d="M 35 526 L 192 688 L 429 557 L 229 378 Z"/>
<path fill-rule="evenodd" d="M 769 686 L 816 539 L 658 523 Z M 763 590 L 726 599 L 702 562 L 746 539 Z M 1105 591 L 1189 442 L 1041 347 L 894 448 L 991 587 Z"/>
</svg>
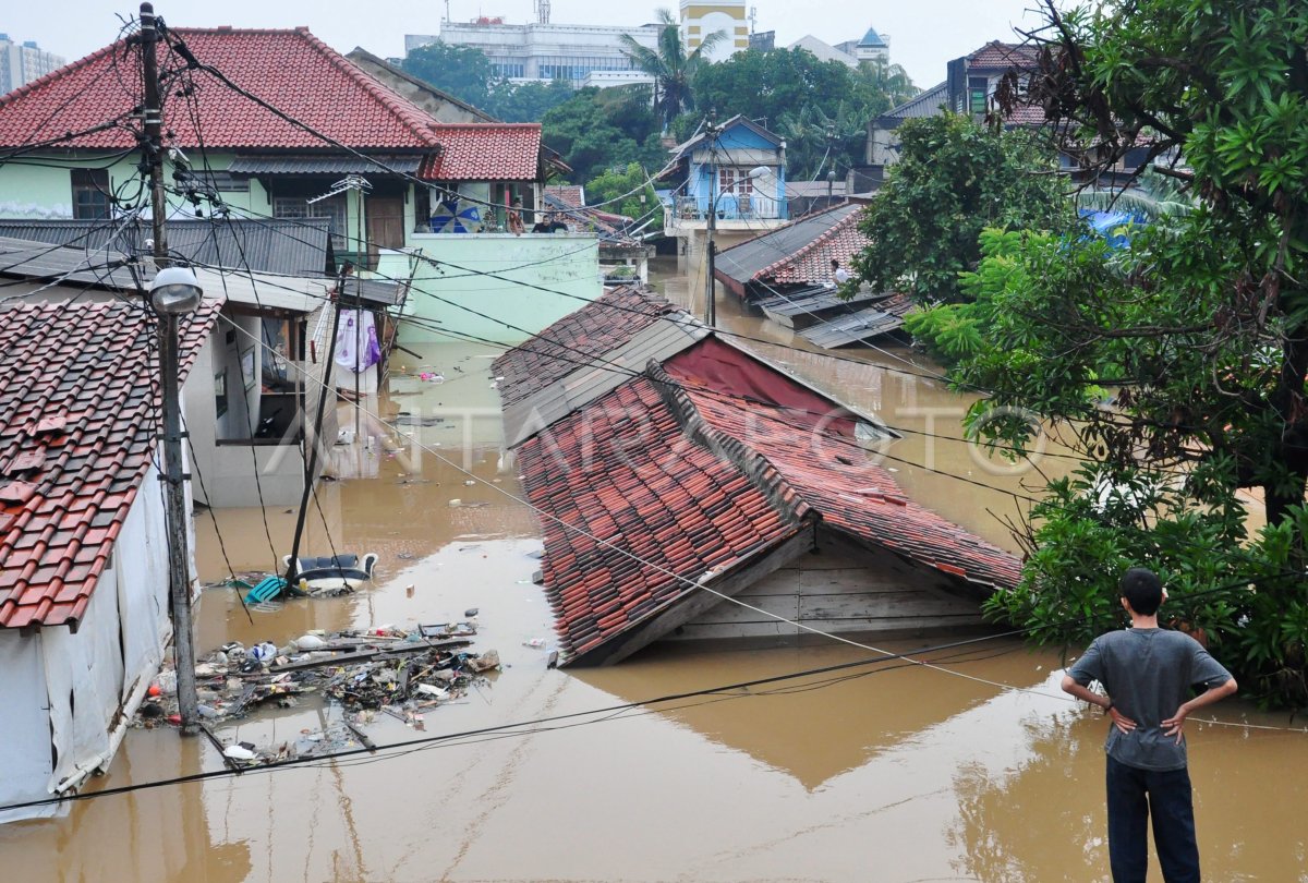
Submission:
<svg viewBox="0 0 1308 883">
<path fill-rule="evenodd" d="M 191 556 L 186 536 L 186 491 L 182 472 L 182 406 L 178 394 L 178 318 L 195 313 L 203 292 L 186 267 L 166 267 L 150 283 L 150 306 L 160 318 L 160 374 L 164 385 L 164 504 L 167 511 L 169 617 L 177 666 L 177 701 L 182 735 L 199 730 L 200 700 L 195 691 L 195 645 L 191 640 Z"/>
</svg>

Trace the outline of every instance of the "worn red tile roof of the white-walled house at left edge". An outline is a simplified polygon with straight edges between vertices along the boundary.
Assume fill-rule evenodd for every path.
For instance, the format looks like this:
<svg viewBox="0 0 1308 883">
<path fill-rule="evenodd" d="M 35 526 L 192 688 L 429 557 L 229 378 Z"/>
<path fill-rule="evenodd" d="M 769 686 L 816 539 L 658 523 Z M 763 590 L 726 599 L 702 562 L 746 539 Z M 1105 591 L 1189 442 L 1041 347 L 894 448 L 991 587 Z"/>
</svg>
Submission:
<svg viewBox="0 0 1308 883">
<path fill-rule="evenodd" d="M 183 377 L 220 306 L 183 324 Z M 156 326 L 120 302 L 0 317 L 0 627 L 76 628 L 154 451 Z"/>
</svg>

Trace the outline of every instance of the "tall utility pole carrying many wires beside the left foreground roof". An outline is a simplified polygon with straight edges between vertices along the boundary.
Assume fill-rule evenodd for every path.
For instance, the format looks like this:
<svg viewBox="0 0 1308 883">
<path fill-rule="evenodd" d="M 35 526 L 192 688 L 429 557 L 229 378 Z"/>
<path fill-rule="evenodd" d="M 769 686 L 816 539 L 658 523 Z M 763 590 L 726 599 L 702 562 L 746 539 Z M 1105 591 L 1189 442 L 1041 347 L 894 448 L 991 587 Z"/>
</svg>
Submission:
<svg viewBox="0 0 1308 883">
<path fill-rule="evenodd" d="M 141 4 L 141 73 L 145 86 L 145 143 L 143 160 L 150 175 L 150 225 L 154 233 L 156 273 L 169 266 L 167 200 L 164 194 L 164 107 L 160 102 L 158 59 L 154 50 L 160 33 L 154 8 Z M 177 272 L 177 271 L 173 271 Z M 156 275 L 156 280 L 158 276 Z M 196 293 L 199 288 L 195 289 Z M 152 293 L 152 302 L 153 302 Z M 198 302 L 196 302 L 198 305 Z M 178 313 L 161 310 L 160 374 L 164 399 L 164 502 L 167 510 L 169 616 L 173 620 L 173 658 L 177 668 L 177 701 L 182 735 L 195 735 L 200 725 L 200 700 L 195 688 L 195 644 L 191 636 L 191 573 L 187 548 L 186 489 L 182 472 L 182 406 L 178 391 Z"/>
</svg>

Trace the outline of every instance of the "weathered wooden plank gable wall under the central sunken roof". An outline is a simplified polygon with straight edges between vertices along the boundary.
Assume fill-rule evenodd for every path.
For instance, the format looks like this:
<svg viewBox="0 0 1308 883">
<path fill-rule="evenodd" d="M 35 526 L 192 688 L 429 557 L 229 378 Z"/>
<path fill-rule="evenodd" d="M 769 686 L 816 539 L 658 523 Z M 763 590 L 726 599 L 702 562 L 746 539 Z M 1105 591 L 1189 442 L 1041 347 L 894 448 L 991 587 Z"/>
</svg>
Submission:
<svg viewBox="0 0 1308 883">
<path fill-rule="evenodd" d="M 950 577 L 883 549 L 823 530 L 818 555 L 800 555 L 738 599 L 835 634 L 918 637 L 984 627 L 980 603 L 946 589 Z M 804 632 L 730 600 L 666 640 L 749 640 L 794 644 Z"/>
</svg>

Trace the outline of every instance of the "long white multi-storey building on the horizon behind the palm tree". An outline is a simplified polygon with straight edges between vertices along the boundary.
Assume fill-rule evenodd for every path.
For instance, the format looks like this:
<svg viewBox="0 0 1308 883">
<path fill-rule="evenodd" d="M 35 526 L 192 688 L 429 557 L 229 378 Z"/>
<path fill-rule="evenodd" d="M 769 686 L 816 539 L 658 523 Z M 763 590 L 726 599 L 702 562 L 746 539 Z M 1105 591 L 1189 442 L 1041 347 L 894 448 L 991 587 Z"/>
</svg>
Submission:
<svg viewBox="0 0 1308 883">
<path fill-rule="evenodd" d="M 632 72 L 623 54 L 623 34 L 641 46 L 657 48 L 662 25 L 510 25 L 498 16 L 441 22 L 441 34 L 405 34 L 404 52 L 441 41 L 449 46 L 479 48 L 490 59 L 497 77 L 515 82 L 566 80 L 581 88 L 595 72 Z M 625 80 L 630 82 L 632 80 Z"/>
</svg>

